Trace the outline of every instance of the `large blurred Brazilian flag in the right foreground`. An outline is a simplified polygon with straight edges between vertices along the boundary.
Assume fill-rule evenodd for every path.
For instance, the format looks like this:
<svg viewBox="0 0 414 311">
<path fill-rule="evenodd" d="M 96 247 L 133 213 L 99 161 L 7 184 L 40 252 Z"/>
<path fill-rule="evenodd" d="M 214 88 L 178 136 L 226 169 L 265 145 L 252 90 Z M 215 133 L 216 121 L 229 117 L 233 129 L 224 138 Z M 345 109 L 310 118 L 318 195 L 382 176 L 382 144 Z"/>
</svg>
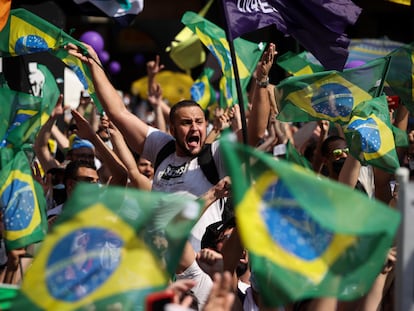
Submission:
<svg viewBox="0 0 414 311">
<path fill-rule="evenodd" d="M 220 148 L 266 307 L 313 297 L 354 300 L 370 290 L 392 246 L 398 211 L 229 137 Z"/>
</svg>

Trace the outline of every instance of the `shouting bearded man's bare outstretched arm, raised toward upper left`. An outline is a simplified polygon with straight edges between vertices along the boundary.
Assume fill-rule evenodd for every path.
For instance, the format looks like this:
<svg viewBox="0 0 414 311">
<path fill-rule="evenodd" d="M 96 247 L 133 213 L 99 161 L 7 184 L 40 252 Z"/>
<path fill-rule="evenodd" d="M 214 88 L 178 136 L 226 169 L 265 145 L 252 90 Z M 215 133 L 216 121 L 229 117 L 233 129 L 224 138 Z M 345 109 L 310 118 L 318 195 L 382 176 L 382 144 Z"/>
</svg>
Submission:
<svg viewBox="0 0 414 311">
<path fill-rule="evenodd" d="M 78 46 L 71 43 L 66 46 L 66 49 L 69 54 L 79 58 L 89 66 L 95 92 L 103 109 L 119 128 L 131 148 L 138 153 L 142 153 L 148 125 L 127 109 L 121 96 L 106 76 L 94 49 L 90 45 L 84 45 L 88 51 L 87 55 Z"/>
</svg>

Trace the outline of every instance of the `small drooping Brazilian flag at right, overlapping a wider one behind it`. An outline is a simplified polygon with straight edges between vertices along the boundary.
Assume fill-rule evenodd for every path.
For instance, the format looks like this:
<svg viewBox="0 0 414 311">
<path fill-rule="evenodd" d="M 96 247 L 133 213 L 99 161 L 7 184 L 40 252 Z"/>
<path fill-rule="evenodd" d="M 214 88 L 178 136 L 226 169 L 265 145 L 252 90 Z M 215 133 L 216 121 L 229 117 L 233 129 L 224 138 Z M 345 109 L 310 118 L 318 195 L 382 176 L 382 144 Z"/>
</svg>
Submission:
<svg viewBox="0 0 414 311">
<path fill-rule="evenodd" d="M 385 96 L 358 105 L 344 134 L 351 154 L 363 164 L 394 173 L 400 167 Z"/>
</svg>

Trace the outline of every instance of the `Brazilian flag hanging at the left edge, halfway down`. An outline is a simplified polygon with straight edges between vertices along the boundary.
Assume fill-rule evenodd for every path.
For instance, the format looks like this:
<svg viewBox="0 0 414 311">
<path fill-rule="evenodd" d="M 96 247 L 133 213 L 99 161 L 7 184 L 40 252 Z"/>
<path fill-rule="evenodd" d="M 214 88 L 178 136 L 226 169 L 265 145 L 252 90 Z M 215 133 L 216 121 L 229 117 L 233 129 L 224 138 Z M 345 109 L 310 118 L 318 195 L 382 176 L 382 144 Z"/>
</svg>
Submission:
<svg viewBox="0 0 414 311">
<path fill-rule="evenodd" d="M 0 153 L 10 152 L 0 148 Z M 18 151 L 0 171 L 0 208 L 8 250 L 42 241 L 47 231 L 43 188 L 33 180 L 28 158 Z"/>
</svg>

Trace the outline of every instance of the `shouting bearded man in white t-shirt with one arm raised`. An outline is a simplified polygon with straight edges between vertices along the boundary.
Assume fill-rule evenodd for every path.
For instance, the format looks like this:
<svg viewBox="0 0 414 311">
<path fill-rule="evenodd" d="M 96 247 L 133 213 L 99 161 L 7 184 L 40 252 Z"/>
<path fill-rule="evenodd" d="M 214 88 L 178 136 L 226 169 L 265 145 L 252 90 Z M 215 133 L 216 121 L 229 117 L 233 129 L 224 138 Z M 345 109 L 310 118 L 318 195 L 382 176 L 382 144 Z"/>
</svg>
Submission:
<svg viewBox="0 0 414 311">
<path fill-rule="evenodd" d="M 162 192 L 182 192 L 194 198 L 203 196 L 217 182 L 226 177 L 224 163 L 220 156 L 219 141 L 205 148 L 207 120 L 203 109 L 193 100 L 183 100 L 170 111 L 170 134 L 149 126 L 128 110 L 117 90 L 109 81 L 99 62 L 96 52 L 86 45 L 88 53 L 69 44 L 68 52 L 85 62 L 92 75 L 96 94 L 109 118 L 118 127 L 131 149 L 155 164 L 157 155 L 165 145 L 174 142 L 175 150 L 168 154 L 155 168 L 152 190 Z M 174 81 L 171 81 L 174 83 Z M 172 144 L 172 143 L 170 143 Z M 199 163 L 206 152 L 207 165 L 204 170 L 217 171 L 217 178 L 209 181 Z M 212 160 L 208 160 L 211 158 Z M 228 187 L 226 184 L 224 187 Z M 200 249 L 201 237 L 205 228 L 221 220 L 223 200 L 214 202 L 194 226 L 190 241 L 194 249 Z"/>
</svg>

